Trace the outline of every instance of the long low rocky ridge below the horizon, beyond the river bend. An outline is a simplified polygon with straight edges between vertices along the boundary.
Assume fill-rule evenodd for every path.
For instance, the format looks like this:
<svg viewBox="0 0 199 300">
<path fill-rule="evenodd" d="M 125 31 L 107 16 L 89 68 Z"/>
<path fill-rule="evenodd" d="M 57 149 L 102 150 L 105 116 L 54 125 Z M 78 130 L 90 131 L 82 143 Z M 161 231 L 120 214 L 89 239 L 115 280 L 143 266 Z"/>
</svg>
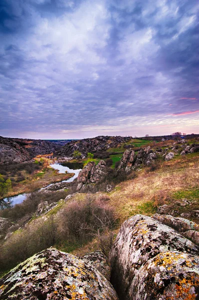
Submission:
<svg viewBox="0 0 199 300">
<path fill-rule="evenodd" d="M 72 157 L 75 150 L 81 154 L 86 155 L 87 152 L 102 152 L 109 148 L 115 148 L 123 142 L 128 142 L 132 139 L 131 136 L 96 136 L 93 138 L 84 138 L 80 140 L 72 140 L 64 147 L 56 152 L 57 156 L 70 156 Z"/>
</svg>

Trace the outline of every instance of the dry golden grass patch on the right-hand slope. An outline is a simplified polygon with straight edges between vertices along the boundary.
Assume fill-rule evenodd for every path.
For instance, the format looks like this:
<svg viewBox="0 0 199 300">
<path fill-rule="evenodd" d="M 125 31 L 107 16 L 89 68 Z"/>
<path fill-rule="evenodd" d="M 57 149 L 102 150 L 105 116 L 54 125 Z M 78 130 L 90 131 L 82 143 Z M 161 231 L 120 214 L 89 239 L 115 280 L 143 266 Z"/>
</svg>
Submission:
<svg viewBox="0 0 199 300">
<path fill-rule="evenodd" d="M 198 189 L 199 155 L 198 153 L 179 156 L 162 162 L 161 167 L 153 172 L 142 169 L 136 178 L 121 182 L 109 193 L 110 205 L 114 206 L 120 222 L 130 215 L 141 211 L 138 208 L 148 201 L 164 204 L 172 198 L 172 193 L 180 190 Z M 144 209 L 143 209 L 144 210 Z M 150 214 L 150 209 L 145 211 Z"/>
</svg>

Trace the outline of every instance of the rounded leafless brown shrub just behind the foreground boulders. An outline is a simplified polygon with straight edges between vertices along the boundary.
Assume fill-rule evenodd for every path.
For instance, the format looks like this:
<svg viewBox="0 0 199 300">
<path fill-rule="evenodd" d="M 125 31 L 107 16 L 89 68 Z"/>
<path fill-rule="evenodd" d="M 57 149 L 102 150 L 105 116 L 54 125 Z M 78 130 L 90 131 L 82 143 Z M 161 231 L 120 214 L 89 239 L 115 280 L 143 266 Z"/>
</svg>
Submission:
<svg viewBox="0 0 199 300">
<path fill-rule="evenodd" d="M 61 239 L 83 243 L 90 240 L 99 230 L 112 228 L 115 224 L 113 208 L 86 195 L 85 201 L 75 200 L 61 213 L 59 233 Z"/>
</svg>

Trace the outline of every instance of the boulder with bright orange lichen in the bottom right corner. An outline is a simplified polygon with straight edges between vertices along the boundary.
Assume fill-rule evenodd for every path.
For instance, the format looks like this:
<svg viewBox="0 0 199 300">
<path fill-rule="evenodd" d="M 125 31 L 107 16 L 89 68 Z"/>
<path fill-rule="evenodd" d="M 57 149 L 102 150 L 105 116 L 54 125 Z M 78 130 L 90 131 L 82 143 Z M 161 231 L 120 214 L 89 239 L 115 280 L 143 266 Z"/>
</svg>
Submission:
<svg viewBox="0 0 199 300">
<path fill-rule="evenodd" d="M 199 258 L 181 252 L 163 252 L 140 267 L 129 288 L 136 300 L 196 300 Z"/>
</svg>

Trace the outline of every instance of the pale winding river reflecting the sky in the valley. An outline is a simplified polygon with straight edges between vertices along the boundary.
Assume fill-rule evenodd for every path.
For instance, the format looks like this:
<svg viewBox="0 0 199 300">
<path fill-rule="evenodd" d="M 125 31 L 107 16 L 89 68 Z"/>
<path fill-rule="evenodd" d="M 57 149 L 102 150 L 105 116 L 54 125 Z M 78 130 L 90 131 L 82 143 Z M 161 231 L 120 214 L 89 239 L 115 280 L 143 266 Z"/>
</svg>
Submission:
<svg viewBox="0 0 199 300">
<path fill-rule="evenodd" d="M 65 171 L 67 171 L 68 173 L 74 173 L 74 176 L 70 177 L 69 179 L 62 180 L 60 182 L 72 182 L 78 176 L 78 173 L 82 169 L 82 164 L 77 162 L 52 163 L 50 164 L 50 166 L 54 169 L 57 169 L 59 173 L 65 173 Z M 52 184 L 53 183 L 50 183 L 47 186 L 50 186 Z M 39 190 L 42 190 L 43 187 L 40 188 Z M 26 198 L 27 195 L 28 193 L 22 193 L 13 197 L 4 198 L 3 200 L 5 200 L 6 202 L 7 201 L 11 202 L 11 205 L 13 206 L 15 204 L 21 203 Z"/>
</svg>

